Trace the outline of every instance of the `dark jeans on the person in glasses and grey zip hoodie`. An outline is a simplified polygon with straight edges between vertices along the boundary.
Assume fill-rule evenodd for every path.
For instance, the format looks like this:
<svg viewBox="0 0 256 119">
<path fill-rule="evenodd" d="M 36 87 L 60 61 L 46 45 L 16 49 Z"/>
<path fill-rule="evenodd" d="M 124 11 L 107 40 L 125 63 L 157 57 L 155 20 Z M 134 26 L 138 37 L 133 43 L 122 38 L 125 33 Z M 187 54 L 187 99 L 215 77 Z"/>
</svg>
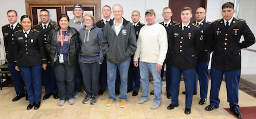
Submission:
<svg viewBox="0 0 256 119">
<path fill-rule="evenodd" d="M 83 75 L 83 82 L 87 95 L 97 96 L 100 73 L 99 63 L 79 63 L 79 65 Z"/>
</svg>

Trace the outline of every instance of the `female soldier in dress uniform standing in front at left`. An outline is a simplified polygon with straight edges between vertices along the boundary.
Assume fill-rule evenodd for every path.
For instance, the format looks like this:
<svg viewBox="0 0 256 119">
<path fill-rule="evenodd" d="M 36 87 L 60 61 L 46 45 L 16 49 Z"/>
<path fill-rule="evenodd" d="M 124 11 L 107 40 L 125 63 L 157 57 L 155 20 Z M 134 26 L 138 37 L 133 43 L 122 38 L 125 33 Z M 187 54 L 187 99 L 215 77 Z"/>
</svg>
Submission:
<svg viewBox="0 0 256 119">
<path fill-rule="evenodd" d="M 42 37 L 37 30 L 32 30 L 29 15 L 20 18 L 22 30 L 14 33 L 15 69 L 21 72 L 29 95 L 27 110 L 40 108 L 42 95 L 42 69 L 46 70 L 47 59 Z"/>
</svg>

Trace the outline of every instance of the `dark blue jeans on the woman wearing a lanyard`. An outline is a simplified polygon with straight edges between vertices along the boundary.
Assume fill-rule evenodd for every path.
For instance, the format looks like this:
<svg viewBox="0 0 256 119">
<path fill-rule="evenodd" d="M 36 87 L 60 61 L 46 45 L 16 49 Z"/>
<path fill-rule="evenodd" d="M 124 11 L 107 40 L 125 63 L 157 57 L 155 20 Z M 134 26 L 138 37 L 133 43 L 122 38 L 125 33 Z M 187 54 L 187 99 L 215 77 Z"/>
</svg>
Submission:
<svg viewBox="0 0 256 119">
<path fill-rule="evenodd" d="M 58 86 L 59 99 L 74 98 L 75 65 L 70 67 L 68 63 L 59 63 L 53 66 Z"/>
</svg>

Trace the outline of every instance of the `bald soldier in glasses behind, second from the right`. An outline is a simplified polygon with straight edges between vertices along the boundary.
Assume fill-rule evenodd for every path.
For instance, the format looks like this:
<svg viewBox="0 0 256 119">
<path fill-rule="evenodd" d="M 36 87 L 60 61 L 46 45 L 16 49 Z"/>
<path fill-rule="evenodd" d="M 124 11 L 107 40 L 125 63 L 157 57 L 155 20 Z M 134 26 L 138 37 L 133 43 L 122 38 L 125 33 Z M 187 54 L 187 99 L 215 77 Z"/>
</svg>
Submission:
<svg viewBox="0 0 256 119">
<path fill-rule="evenodd" d="M 199 25 L 201 29 L 201 33 L 203 37 L 206 37 L 209 33 L 211 22 L 206 21 L 206 9 L 199 7 L 195 12 L 195 19 L 196 21 L 194 24 Z M 195 67 L 196 74 L 195 82 L 194 82 L 194 91 L 193 94 L 197 94 L 197 79 L 199 79 L 200 85 L 200 101 L 198 104 L 203 105 L 206 104 L 207 92 L 208 92 L 208 82 L 209 82 L 209 75 L 208 75 L 208 64 L 210 60 L 210 46 L 206 43 L 200 42 L 201 51 L 197 54 L 197 67 Z M 185 91 L 182 92 L 185 94 Z"/>
</svg>

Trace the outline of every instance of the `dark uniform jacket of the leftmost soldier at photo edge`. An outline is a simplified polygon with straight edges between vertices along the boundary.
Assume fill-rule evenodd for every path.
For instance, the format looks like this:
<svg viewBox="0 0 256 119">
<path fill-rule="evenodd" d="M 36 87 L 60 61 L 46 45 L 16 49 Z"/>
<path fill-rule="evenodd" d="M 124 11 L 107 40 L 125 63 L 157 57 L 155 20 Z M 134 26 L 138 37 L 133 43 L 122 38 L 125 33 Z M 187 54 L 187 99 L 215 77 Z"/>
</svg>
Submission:
<svg viewBox="0 0 256 119">
<path fill-rule="evenodd" d="M 2 26 L 2 34 L 4 36 L 5 54 L 8 63 L 14 63 L 13 47 L 14 47 L 14 31 L 21 30 L 22 27 L 18 23 L 14 30 L 11 30 L 10 24 Z"/>
</svg>

